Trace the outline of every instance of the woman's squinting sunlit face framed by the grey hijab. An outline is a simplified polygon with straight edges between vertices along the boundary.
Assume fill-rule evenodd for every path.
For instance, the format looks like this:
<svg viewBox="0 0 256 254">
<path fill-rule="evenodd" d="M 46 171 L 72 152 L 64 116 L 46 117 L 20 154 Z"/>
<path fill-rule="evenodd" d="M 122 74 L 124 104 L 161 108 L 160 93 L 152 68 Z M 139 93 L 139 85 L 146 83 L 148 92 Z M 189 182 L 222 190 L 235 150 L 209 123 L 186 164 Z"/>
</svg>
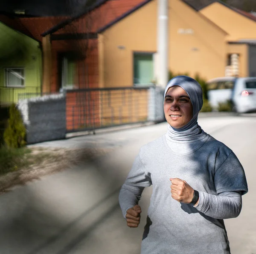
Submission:
<svg viewBox="0 0 256 254">
<path fill-rule="evenodd" d="M 193 106 L 186 91 L 180 86 L 168 89 L 164 98 L 164 115 L 173 128 L 182 128 L 193 117 Z"/>
</svg>

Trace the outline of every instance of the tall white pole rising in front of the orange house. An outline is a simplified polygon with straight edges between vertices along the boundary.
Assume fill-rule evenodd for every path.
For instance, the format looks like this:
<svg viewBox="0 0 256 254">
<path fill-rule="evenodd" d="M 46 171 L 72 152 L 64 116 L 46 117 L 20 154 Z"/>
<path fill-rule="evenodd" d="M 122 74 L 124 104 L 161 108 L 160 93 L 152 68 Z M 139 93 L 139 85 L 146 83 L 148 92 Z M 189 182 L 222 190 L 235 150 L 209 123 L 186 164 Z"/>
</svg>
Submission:
<svg viewBox="0 0 256 254">
<path fill-rule="evenodd" d="M 158 75 L 157 84 L 165 88 L 168 80 L 168 2 L 158 0 L 157 53 Z"/>
</svg>

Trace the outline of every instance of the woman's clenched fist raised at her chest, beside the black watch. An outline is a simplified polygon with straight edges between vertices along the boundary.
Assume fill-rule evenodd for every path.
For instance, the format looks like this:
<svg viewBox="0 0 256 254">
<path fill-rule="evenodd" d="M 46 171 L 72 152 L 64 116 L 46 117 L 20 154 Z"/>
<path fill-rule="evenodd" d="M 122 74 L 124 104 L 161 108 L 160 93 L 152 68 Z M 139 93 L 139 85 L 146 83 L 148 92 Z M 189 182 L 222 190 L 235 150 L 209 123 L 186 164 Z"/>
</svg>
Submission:
<svg viewBox="0 0 256 254">
<path fill-rule="evenodd" d="M 172 183 L 172 198 L 178 202 L 189 204 L 193 199 L 194 189 L 180 178 L 170 178 L 170 181 Z"/>
</svg>

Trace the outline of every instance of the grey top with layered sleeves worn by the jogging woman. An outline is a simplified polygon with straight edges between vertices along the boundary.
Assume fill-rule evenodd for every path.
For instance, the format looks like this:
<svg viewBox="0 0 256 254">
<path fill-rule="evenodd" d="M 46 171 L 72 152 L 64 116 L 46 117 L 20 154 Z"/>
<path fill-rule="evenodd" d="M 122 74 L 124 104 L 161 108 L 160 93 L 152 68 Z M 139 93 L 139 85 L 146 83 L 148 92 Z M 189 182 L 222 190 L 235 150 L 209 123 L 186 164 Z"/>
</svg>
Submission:
<svg viewBox="0 0 256 254">
<path fill-rule="evenodd" d="M 165 136 L 148 143 L 121 188 L 125 217 L 143 189 L 153 185 L 142 254 L 230 254 L 223 219 L 241 211 L 241 194 L 247 192 L 244 169 L 230 148 L 208 134 L 191 147 L 174 152 Z M 170 177 L 186 180 L 199 191 L 197 207 L 171 197 Z"/>
</svg>

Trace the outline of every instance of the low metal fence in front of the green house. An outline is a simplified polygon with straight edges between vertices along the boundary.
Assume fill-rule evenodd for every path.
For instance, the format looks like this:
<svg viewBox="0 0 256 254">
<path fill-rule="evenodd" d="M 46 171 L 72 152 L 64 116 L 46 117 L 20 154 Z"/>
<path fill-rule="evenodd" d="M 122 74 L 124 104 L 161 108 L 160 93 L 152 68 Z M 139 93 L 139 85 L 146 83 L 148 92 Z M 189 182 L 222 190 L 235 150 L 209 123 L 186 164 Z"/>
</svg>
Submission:
<svg viewBox="0 0 256 254">
<path fill-rule="evenodd" d="M 35 96 L 41 96 L 40 87 L 0 87 L 0 106 L 10 106 L 20 99 L 28 99 Z"/>
</svg>

